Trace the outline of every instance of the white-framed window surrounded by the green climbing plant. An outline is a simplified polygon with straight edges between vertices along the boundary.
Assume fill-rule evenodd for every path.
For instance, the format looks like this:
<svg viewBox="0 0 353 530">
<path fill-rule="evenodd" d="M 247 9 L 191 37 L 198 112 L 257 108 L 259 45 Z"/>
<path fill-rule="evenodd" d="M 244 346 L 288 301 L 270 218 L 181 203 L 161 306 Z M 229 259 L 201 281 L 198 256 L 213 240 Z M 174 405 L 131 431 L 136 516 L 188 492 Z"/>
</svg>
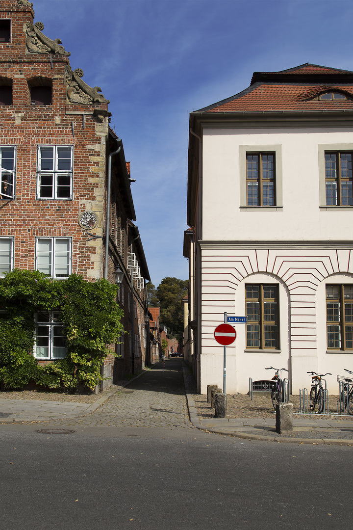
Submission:
<svg viewBox="0 0 353 530">
<path fill-rule="evenodd" d="M 64 359 L 64 326 L 60 322 L 59 311 L 41 311 L 35 313 L 34 357 L 37 359 Z"/>
</svg>

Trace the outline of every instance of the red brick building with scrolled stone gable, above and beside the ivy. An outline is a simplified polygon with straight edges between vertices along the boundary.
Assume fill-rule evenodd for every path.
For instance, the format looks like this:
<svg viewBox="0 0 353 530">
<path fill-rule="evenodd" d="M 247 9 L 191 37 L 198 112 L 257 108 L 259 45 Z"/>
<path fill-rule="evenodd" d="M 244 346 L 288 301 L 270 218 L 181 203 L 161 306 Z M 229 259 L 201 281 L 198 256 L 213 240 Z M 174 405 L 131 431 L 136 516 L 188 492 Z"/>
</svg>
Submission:
<svg viewBox="0 0 353 530">
<path fill-rule="evenodd" d="M 105 364 L 105 375 L 119 379 L 145 362 L 150 279 L 132 223 L 130 164 L 109 127 L 109 100 L 83 81 L 82 70 L 71 69 L 61 41 L 49 39 L 33 19 L 27 0 L 2 2 L 0 275 L 20 268 L 57 279 L 74 272 L 113 281 L 119 266 L 128 334 L 115 346 L 121 357 Z M 65 355 L 48 319 L 47 343 L 37 342 L 34 352 L 43 363 Z"/>
</svg>

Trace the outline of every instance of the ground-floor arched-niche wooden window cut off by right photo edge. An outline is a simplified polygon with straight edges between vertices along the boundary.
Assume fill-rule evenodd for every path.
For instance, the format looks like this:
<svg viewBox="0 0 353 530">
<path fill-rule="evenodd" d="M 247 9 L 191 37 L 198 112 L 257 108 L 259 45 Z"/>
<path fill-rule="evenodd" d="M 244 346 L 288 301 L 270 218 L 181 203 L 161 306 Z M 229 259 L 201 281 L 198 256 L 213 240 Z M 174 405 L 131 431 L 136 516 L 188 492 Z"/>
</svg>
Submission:
<svg viewBox="0 0 353 530">
<path fill-rule="evenodd" d="M 326 286 L 328 350 L 353 350 L 353 285 Z"/>
</svg>

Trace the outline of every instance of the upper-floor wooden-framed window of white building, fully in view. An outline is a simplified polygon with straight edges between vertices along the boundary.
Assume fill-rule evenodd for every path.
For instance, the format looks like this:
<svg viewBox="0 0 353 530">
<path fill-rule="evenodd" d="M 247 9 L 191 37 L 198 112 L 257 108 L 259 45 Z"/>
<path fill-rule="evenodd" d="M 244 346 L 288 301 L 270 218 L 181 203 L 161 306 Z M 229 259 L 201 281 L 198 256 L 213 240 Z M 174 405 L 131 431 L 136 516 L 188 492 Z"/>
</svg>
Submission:
<svg viewBox="0 0 353 530">
<path fill-rule="evenodd" d="M 275 153 L 247 153 L 247 206 L 276 206 Z"/>
</svg>

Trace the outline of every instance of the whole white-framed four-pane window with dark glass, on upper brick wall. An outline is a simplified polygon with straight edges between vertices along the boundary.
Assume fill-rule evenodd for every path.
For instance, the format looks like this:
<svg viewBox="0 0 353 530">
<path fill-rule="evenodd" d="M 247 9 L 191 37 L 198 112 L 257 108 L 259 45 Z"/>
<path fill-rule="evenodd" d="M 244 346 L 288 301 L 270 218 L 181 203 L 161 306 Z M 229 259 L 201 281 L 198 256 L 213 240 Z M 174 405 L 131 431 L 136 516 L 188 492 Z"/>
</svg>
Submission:
<svg viewBox="0 0 353 530">
<path fill-rule="evenodd" d="M 72 199 L 73 146 L 39 145 L 37 199 Z"/>
</svg>

